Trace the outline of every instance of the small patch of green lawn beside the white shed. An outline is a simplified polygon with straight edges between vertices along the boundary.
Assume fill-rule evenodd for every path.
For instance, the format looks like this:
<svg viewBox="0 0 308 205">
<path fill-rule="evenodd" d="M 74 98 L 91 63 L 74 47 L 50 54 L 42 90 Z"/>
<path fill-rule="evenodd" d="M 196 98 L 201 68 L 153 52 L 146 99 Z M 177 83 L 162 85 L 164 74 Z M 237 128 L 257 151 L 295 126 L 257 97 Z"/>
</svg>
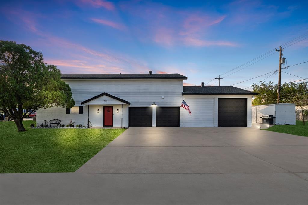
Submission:
<svg viewBox="0 0 308 205">
<path fill-rule="evenodd" d="M 303 121 L 296 120 L 296 125 L 274 125 L 266 130 L 308 137 L 308 122 L 303 125 Z"/>
</svg>

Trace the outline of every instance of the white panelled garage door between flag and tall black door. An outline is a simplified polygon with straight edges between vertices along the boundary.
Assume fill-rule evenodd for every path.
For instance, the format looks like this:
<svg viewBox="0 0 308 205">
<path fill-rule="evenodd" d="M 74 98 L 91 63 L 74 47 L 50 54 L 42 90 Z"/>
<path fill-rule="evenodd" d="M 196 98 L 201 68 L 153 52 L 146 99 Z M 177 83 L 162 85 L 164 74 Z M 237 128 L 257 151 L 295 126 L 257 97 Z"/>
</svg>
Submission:
<svg viewBox="0 0 308 205">
<path fill-rule="evenodd" d="M 180 108 L 185 115 L 184 127 L 214 127 L 214 98 L 185 98 L 185 102 L 192 115 Z"/>
</svg>

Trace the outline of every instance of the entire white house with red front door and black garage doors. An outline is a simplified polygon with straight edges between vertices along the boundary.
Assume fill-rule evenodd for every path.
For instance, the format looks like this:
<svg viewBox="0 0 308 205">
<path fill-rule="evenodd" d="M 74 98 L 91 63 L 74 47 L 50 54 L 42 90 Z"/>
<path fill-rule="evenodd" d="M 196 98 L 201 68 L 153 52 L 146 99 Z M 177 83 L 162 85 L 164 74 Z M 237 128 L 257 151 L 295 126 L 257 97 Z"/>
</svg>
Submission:
<svg viewBox="0 0 308 205">
<path fill-rule="evenodd" d="M 37 112 L 93 127 L 251 127 L 255 93 L 233 86 L 183 86 L 180 74 L 62 74 L 76 102 Z M 180 107 L 188 104 L 191 115 Z"/>
</svg>

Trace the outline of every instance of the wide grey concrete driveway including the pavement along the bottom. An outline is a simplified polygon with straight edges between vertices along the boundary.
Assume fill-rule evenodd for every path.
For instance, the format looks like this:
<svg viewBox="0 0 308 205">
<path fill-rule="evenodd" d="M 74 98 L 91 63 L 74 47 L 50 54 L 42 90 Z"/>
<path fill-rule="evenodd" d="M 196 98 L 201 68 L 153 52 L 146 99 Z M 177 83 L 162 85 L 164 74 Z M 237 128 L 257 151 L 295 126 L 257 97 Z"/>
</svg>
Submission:
<svg viewBox="0 0 308 205">
<path fill-rule="evenodd" d="M 308 204 L 308 138 L 129 128 L 75 173 L 2 174 L 0 204 Z"/>
</svg>

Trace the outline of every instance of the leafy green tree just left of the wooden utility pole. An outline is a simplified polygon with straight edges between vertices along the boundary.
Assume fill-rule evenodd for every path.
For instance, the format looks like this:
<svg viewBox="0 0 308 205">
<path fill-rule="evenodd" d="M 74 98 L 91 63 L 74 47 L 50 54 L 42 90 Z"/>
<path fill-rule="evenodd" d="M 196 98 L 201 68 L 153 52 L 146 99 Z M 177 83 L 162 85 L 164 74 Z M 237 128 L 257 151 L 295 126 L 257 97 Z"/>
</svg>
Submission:
<svg viewBox="0 0 308 205">
<path fill-rule="evenodd" d="M 253 105 L 268 105 L 277 103 L 278 87 L 274 84 L 274 82 L 262 82 L 260 85 L 254 83 L 252 88 L 254 93 L 258 93 L 258 95 L 254 96 L 255 98 L 253 100 Z"/>
</svg>

